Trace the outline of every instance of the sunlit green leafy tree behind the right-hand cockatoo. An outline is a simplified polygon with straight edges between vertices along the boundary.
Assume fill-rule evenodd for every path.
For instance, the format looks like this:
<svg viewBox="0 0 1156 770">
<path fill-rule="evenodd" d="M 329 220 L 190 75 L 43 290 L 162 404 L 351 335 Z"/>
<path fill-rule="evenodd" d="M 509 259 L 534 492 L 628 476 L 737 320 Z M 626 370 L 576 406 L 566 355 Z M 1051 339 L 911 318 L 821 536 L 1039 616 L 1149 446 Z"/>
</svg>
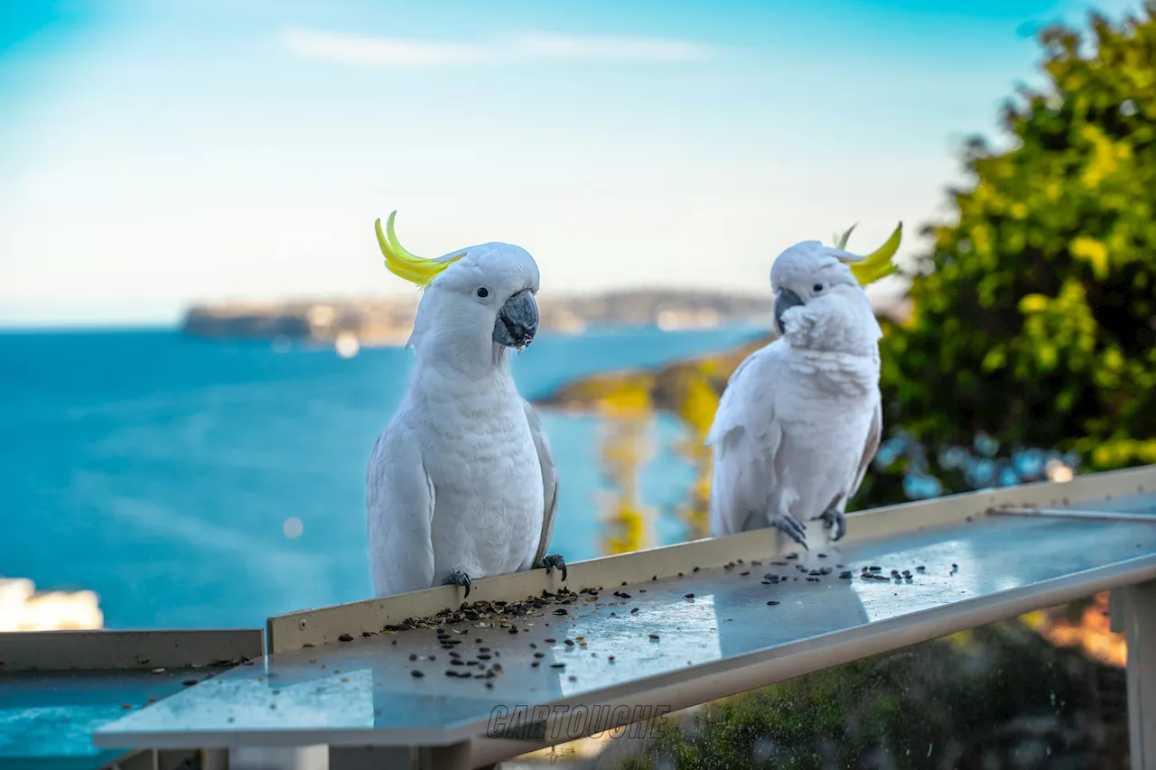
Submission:
<svg viewBox="0 0 1156 770">
<path fill-rule="evenodd" d="M 1005 106 L 1010 149 L 968 143 L 958 222 L 929 228 L 913 318 L 885 325 L 885 421 L 933 454 L 986 432 L 1156 462 L 1156 0 L 1089 27 L 1040 34 L 1046 84 Z M 868 474 L 860 505 L 902 499 Z"/>
</svg>

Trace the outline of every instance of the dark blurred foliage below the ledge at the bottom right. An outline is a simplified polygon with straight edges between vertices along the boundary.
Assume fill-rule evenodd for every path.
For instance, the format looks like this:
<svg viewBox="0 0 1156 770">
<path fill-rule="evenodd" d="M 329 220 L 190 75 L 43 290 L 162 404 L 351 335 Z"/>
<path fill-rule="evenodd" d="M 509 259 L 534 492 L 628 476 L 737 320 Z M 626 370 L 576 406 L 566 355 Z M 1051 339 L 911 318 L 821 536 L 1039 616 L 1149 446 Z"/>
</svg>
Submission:
<svg viewBox="0 0 1156 770">
<path fill-rule="evenodd" d="M 1124 768 L 1124 680 L 996 623 L 713 703 L 618 769 Z"/>
</svg>

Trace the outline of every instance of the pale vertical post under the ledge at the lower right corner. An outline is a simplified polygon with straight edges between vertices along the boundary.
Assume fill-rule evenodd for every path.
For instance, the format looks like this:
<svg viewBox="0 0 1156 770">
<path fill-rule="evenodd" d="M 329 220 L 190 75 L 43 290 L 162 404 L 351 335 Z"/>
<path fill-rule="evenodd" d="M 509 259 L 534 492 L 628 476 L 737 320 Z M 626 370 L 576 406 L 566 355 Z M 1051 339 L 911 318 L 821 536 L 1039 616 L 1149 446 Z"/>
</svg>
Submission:
<svg viewBox="0 0 1156 770">
<path fill-rule="evenodd" d="M 1132 770 L 1156 770 L 1156 580 L 1126 588 L 1124 635 L 1128 645 L 1128 735 Z"/>
</svg>

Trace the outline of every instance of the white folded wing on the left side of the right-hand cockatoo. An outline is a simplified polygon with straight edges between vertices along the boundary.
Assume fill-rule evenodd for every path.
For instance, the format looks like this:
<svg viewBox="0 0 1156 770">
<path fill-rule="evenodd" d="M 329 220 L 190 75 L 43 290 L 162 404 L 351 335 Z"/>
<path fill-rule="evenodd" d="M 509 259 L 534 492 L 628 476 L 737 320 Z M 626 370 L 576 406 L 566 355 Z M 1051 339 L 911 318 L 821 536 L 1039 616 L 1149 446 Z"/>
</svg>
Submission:
<svg viewBox="0 0 1156 770">
<path fill-rule="evenodd" d="M 751 516 L 766 513 L 776 486 L 783 429 L 775 414 L 775 382 L 787 348 L 776 341 L 747 357 L 731 376 L 706 445 L 714 447 L 711 535 L 742 532 Z"/>
</svg>

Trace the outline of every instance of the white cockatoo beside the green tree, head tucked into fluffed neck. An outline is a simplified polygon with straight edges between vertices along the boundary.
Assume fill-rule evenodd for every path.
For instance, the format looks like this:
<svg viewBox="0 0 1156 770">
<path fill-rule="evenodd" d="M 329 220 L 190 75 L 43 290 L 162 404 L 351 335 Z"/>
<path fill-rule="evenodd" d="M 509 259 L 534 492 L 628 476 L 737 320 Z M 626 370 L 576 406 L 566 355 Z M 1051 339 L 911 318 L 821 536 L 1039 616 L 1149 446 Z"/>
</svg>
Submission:
<svg viewBox="0 0 1156 770">
<path fill-rule="evenodd" d="M 806 548 L 806 521 L 822 519 L 832 540 L 846 532 L 883 430 L 882 331 L 864 286 L 895 271 L 902 229 L 868 257 L 844 251 L 847 230 L 837 246 L 807 240 L 775 260 L 779 336 L 731 376 L 706 438 L 712 536 L 773 526 Z"/>
</svg>

